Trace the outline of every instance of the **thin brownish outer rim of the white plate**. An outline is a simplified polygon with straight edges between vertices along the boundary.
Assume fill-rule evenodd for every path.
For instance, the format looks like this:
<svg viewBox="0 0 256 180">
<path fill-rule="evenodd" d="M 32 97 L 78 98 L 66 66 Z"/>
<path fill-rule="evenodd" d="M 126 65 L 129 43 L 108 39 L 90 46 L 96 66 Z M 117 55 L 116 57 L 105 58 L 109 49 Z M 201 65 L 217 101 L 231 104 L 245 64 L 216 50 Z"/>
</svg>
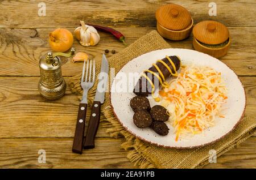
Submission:
<svg viewBox="0 0 256 180">
<path fill-rule="evenodd" d="M 166 50 L 166 49 L 184 49 L 184 48 L 165 48 L 165 49 L 152 50 L 151 52 L 148 52 L 148 53 L 156 52 L 156 51 L 159 51 L 159 50 Z M 191 51 L 193 51 L 193 52 L 205 54 L 205 53 L 198 52 L 198 51 L 192 50 L 192 49 L 185 49 L 185 50 L 191 50 Z M 144 54 L 148 54 L 148 53 L 144 53 Z M 138 58 L 138 57 L 140 57 L 140 56 L 142 56 L 142 55 L 144 55 L 144 54 L 141 54 L 141 55 L 139 55 L 139 56 L 137 56 L 137 57 L 135 57 L 135 58 Z M 209 55 L 209 54 L 205 54 L 205 55 L 208 55 L 208 56 L 212 57 L 212 56 Z M 135 58 L 133 58 L 133 59 L 135 59 Z M 214 58 L 214 57 L 212 57 L 212 58 Z M 133 59 L 131 59 L 129 62 L 133 61 Z M 215 59 L 217 59 L 217 58 L 215 58 Z M 220 59 L 217 59 L 217 61 L 220 61 Z M 129 63 L 129 62 L 127 62 L 127 63 Z M 228 67 L 230 70 L 232 70 L 232 68 L 230 68 L 230 67 L 229 67 L 228 65 L 226 65 L 224 62 L 222 62 L 222 61 L 220 61 L 220 62 L 221 62 L 222 64 L 224 64 L 226 67 Z M 125 65 L 127 65 L 127 63 L 126 63 Z M 125 65 L 124 65 L 124 66 L 125 66 Z M 124 66 L 123 66 L 123 67 L 124 67 Z M 122 68 L 123 68 L 123 67 L 122 67 Z M 122 70 L 122 68 L 117 72 L 117 74 Z M 232 70 L 232 71 L 233 71 L 233 70 Z M 233 71 L 233 72 L 234 72 L 234 71 Z M 117 74 L 115 74 L 115 76 L 116 76 Z M 113 82 L 114 82 L 114 79 L 113 79 L 113 82 L 110 83 L 110 84 L 111 84 L 111 85 L 110 85 L 110 93 L 109 93 L 109 94 L 110 94 L 110 95 L 109 95 L 109 97 L 110 97 L 110 107 L 111 107 L 111 109 L 112 109 L 112 111 L 113 111 L 113 113 L 114 113 L 114 115 L 115 115 L 115 118 L 118 119 L 119 123 L 121 123 L 122 127 L 124 127 L 125 130 L 127 130 L 128 132 L 130 132 L 131 134 L 133 134 L 136 138 L 138 138 L 138 139 L 140 139 L 140 140 L 143 140 L 144 142 L 150 143 L 151 145 L 156 145 L 156 146 L 158 146 L 158 147 L 163 147 L 163 148 L 168 148 L 168 149 L 171 149 L 171 148 L 174 148 L 174 149 L 192 149 L 192 148 L 204 147 L 204 146 L 206 146 L 206 145 L 216 143 L 216 142 L 218 142 L 219 140 L 225 138 L 227 135 L 229 135 L 229 134 L 240 124 L 240 122 L 242 121 L 242 118 L 245 117 L 245 108 L 246 108 L 246 104 L 247 104 L 247 96 L 246 96 L 245 87 L 244 87 L 243 83 L 241 82 L 241 79 L 239 78 L 239 76 L 236 74 L 236 72 L 234 72 L 234 74 L 237 76 L 237 79 L 240 81 L 240 83 L 241 83 L 241 85 L 242 85 L 242 88 L 243 88 L 244 95 L 245 95 L 245 105 L 243 106 L 243 112 L 242 112 L 242 114 L 241 114 L 241 117 L 240 117 L 239 120 L 237 121 L 236 125 L 234 125 L 233 128 L 230 129 L 230 131 L 228 131 L 226 134 L 224 134 L 224 135 L 221 136 L 220 138 L 215 139 L 215 140 L 213 140 L 212 142 L 209 142 L 209 143 L 204 143 L 204 144 L 200 144 L 200 145 L 192 145 L 192 146 L 188 146 L 188 147 L 179 147 L 179 146 L 163 145 L 163 144 L 158 144 L 158 143 L 155 143 L 155 142 L 151 142 L 150 140 L 146 140 L 146 139 L 142 138 L 141 136 L 135 134 L 133 131 L 129 130 L 125 125 L 123 125 L 122 121 L 118 118 L 117 114 L 115 113 L 114 107 L 113 107 L 113 105 L 112 105 L 112 98 L 111 98 L 112 91 L 111 91 L 111 90 L 112 90 L 112 84 L 113 84 Z"/>
</svg>

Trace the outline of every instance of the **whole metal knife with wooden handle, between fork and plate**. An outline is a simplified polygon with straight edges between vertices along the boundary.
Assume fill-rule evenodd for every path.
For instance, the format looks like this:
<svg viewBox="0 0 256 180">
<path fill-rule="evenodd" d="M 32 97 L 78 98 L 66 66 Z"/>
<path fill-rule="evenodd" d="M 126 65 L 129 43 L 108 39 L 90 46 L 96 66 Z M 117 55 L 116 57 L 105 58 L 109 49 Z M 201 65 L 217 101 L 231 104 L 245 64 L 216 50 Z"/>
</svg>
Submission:
<svg viewBox="0 0 256 180">
<path fill-rule="evenodd" d="M 101 115 L 101 104 L 105 99 L 106 86 L 108 85 L 109 62 L 105 54 L 102 54 L 101 72 L 98 75 L 98 85 L 96 95 L 92 104 L 92 112 L 90 114 L 90 121 L 88 130 L 86 132 L 84 149 L 94 148 L 94 139 L 98 130 Z"/>
</svg>

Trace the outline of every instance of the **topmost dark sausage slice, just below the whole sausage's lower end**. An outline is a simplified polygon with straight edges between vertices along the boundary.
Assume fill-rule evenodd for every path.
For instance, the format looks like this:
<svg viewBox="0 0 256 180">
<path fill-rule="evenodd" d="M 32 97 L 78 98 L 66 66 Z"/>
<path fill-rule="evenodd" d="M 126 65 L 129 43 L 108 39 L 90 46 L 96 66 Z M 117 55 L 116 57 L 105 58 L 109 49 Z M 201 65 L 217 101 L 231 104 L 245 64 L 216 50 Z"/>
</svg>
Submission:
<svg viewBox="0 0 256 180">
<path fill-rule="evenodd" d="M 150 102 L 147 97 L 143 96 L 133 97 L 130 101 L 130 106 L 134 112 L 137 112 L 138 110 L 150 110 Z"/>
</svg>

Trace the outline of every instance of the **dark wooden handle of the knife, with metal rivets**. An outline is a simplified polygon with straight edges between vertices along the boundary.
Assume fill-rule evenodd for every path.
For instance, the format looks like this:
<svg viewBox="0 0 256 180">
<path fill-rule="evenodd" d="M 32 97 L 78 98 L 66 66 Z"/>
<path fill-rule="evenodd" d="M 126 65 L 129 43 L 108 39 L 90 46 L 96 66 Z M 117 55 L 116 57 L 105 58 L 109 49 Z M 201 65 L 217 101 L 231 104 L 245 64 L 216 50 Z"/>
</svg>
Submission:
<svg viewBox="0 0 256 180">
<path fill-rule="evenodd" d="M 84 149 L 92 149 L 95 147 L 94 139 L 98 130 L 101 115 L 101 102 L 94 101 L 92 105 L 92 113 L 90 114 L 89 127 L 86 133 Z"/>
</svg>

